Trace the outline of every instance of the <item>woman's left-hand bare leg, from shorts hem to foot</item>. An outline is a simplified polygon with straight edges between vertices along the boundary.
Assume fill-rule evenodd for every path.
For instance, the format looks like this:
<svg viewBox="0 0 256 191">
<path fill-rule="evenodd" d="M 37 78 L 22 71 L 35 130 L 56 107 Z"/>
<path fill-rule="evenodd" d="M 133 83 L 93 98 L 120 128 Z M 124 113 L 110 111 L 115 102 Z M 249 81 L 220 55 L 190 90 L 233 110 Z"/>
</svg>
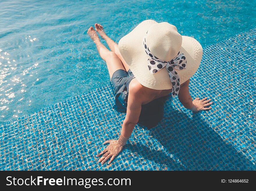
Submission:
<svg viewBox="0 0 256 191">
<path fill-rule="evenodd" d="M 113 76 L 113 73 L 118 70 L 118 69 L 123 69 L 125 68 L 122 65 L 121 60 L 119 57 L 112 51 L 109 51 L 99 40 L 99 37 L 94 30 L 94 28 L 91 26 L 88 31 L 88 35 L 90 38 L 93 40 L 93 42 L 96 44 L 97 50 L 99 52 L 99 56 L 106 61 L 108 70 L 109 70 L 109 76 L 110 79 Z"/>
</svg>

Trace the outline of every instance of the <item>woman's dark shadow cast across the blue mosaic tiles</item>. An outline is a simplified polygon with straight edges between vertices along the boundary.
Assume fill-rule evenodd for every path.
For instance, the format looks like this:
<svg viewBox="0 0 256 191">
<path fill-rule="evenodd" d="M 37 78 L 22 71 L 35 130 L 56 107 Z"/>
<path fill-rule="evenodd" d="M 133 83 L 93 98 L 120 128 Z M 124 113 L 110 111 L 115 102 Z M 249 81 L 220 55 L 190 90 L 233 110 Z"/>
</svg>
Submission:
<svg viewBox="0 0 256 191">
<path fill-rule="evenodd" d="M 190 119 L 186 113 L 179 112 L 172 106 L 169 109 L 173 117 L 163 119 L 167 121 L 164 126 L 150 130 L 150 134 L 166 150 L 150 150 L 149 147 L 136 143 L 129 144 L 131 151 L 139 151 L 138 154 L 143 158 L 172 170 L 255 170 L 251 161 L 237 152 L 232 144 L 227 144 L 201 118 L 201 113 L 193 114 Z M 184 128 L 184 124 L 188 126 Z"/>
</svg>

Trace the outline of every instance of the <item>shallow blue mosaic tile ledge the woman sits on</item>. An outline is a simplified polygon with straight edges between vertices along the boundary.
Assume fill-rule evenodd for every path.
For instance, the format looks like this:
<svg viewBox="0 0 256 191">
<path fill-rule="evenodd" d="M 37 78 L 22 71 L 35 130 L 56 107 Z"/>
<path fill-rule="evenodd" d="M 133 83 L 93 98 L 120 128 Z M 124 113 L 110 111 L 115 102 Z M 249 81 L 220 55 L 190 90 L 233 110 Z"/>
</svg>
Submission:
<svg viewBox="0 0 256 191">
<path fill-rule="evenodd" d="M 190 90 L 210 97 L 213 109 L 193 114 L 177 98 L 153 102 L 112 164 L 95 157 L 125 119 L 108 85 L 2 124 L 0 170 L 256 170 L 255 38 L 256 28 L 205 47 Z M 152 108 L 163 114 L 159 123 L 143 118 Z"/>
</svg>

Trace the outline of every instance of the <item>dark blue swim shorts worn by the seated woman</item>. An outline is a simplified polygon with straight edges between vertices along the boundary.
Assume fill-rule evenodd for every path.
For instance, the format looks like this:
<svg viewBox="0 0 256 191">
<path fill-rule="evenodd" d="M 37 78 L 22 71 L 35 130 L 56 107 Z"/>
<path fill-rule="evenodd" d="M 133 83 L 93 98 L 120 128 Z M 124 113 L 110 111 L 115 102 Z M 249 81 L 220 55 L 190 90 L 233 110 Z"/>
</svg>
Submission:
<svg viewBox="0 0 256 191">
<path fill-rule="evenodd" d="M 110 84 L 115 95 L 115 109 L 118 112 L 126 113 L 129 84 L 133 78 L 135 77 L 130 69 L 128 72 L 119 69 L 113 73 Z"/>
</svg>

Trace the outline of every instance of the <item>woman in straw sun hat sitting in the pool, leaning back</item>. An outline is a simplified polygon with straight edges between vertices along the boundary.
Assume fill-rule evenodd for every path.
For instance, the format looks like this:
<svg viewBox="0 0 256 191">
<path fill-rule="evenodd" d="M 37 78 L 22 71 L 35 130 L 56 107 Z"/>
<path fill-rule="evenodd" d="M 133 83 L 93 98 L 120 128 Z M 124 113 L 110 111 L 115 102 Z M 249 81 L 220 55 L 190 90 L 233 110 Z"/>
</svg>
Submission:
<svg viewBox="0 0 256 191">
<path fill-rule="evenodd" d="M 109 143 L 97 156 L 98 162 L 109 164 L 122 150 L 138 122 L 141 106 L 154 99 L 172 94 L 182 105 L 197 112 L 209 110 L 211 99 L 192 101 L 189 78 L 197 71 L 202 59 L 202 46 L 191 37 L 182 36 L 167 22 L 145 20 L 125 35 L 118 44 L 111 40 L 100 24 L 95 24 L 99 35 L 106 40 L 109 51 L 99 40 L 93 27 L 88 35 L 106 61 L 111 85 L 115 93 L 116 109 L 126 112 L 118 140 Z"/>
</svg>

